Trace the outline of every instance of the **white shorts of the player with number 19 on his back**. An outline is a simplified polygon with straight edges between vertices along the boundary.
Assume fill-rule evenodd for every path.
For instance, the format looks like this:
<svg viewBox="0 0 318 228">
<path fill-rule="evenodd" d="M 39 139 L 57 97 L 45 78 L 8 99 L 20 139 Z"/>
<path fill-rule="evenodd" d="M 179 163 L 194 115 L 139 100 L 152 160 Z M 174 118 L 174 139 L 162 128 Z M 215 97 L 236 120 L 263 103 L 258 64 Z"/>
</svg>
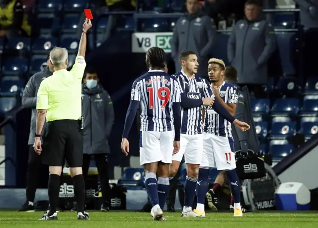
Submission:
<svg viewBox="0 0 318 228">
<path fill-rule="evenodd" d="M 140 165 L 162 161 L 171 163 L 174 132 L 140 132 Z"/>
</svg>

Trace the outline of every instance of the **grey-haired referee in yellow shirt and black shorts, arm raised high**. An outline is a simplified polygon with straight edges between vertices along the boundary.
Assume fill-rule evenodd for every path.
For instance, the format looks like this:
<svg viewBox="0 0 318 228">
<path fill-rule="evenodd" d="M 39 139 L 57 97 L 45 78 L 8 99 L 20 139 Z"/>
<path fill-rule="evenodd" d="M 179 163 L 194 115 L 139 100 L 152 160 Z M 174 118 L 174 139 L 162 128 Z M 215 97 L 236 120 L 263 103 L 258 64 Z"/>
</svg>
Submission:
<svg viewBox="0 0 318 228">
<path fill-rule="evenodd" d="M 79 52 L 72 70 L 67 71 L 68 51 L 55 47 L 50 53 L 54 67 L 52 76 L 44 79 L 37 94 L 36 133 L 34 150 L 42 152 L 40 138 L 45 117 L 47 127 L 43 132 L 42 161 L 49 165 L 48 194 L 50 210 L 40 220 L 57 220 L 56 207 L 60 192 L 60 175 L 64 159 L 70 166 L 74 181 L 74 194 L 78 205 L 78 220 L 89 220 L 84 211 L 85 182 L 82 175 L 83 138 L 81 126 L 81 80 L 86 63 L 86 32 L 91 28 L 87 18 L 79 42 Z"/>
</svg>

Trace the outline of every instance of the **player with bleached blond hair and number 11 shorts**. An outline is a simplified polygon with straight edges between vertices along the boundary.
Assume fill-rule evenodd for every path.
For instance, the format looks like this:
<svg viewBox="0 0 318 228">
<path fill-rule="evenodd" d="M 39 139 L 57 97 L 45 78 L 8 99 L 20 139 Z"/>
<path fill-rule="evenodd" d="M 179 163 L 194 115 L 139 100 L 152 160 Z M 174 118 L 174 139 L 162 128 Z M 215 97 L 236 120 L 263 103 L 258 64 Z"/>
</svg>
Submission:
<svg viewBox="0 0 318 228">
<path fill-rule="evenodd" d="M 235 116 L 238 104 L 237 87 L 223 80 L 225 64 L 222 60 L 210 59 L 208 63 L 208 74 L 215 98 Z M 199 169 L 195 212 L 205 217 L 204 203 L 208 190 L 209 168 L 217 167 L 218 170 L 226 170 L 234 198 L 234 216 L 241 217 L 239 177 L 235 169 L 231 123 L 210 107 L 205 107 L 203 111 L 203 156 Z M 207 194 L 207 197 L 211 195 Z"/>
</svg>

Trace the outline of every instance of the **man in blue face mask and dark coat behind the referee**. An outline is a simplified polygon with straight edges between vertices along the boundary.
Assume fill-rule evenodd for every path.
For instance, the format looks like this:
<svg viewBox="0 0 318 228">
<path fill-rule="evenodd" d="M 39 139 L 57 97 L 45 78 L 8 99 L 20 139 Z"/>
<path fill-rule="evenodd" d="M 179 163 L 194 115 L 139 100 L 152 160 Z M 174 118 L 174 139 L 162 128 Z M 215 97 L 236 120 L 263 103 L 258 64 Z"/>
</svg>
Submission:
<svg viewBox="0 0 318 228">
<path fill-rule="evenodd" d="M 93 155 L 100 177 L 103 203 L 101 211 L 109 211 L 110 188 L 108 183 L 107 155 L 110 153 L 108 137 L 114 123 L 114 109 L 111 98 L 98 83 L 98 76 L 92 69 L 86 72 L 82 85 L 83 129 L 83 176 L 87 176 L 90 158 Z"/>
</svg>

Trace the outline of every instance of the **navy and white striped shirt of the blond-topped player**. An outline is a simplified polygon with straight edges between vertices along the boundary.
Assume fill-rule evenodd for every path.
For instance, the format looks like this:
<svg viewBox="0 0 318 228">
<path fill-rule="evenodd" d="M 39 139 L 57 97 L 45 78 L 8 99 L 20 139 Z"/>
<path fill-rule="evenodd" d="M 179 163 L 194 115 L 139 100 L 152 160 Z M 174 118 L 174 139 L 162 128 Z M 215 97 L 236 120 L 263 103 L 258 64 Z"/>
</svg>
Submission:
<svg viewBox="0 0 318 228">
<path fill-rule="evenodd" d="M 223 82 L 219 87 L 220 97 L 226 104 L 238 104 L 238 88 L 228 82 Z M 212 107 L 204 107 L 203 131 L 216 136 L 232 137 L 231 123 L 216 113 Z"/>
</svg>

